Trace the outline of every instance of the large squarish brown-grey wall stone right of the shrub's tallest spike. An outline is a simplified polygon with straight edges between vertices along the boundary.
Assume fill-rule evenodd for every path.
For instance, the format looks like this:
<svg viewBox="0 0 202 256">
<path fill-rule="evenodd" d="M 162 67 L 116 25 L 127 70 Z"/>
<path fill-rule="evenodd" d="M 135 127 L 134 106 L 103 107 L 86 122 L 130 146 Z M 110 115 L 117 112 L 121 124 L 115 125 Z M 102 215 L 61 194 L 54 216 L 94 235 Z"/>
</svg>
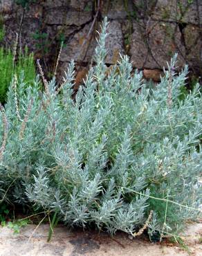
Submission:
<svg viewBox="0 0 202 256">
<path fill-rule="evenodd" d="M 134 23 L 130 55 L 136 68 L 163 68 L 170 58 L 178 52 L 178 65 L 183 66 L 185 47 L 181 42 L 181 32 L 175 24 L 150 21 L 145 24 Z"/>
</svg>

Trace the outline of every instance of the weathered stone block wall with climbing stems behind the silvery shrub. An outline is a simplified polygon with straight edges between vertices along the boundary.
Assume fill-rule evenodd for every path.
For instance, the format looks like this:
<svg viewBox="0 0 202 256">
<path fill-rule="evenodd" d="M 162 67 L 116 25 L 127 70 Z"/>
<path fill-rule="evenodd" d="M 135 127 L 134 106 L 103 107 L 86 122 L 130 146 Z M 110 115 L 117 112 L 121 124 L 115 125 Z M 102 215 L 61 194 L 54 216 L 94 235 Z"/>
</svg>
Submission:
<svg viewBox="0 0 202 256">
<path fill-rule="evenodd" d="M 196 75 L 202 71 L 201 0 L 1 0 L 0 13 L 6 28 L 4 45 L 28 46 L 40 58 L 46 73 L 52 72 L 64 41 L 58 75 L 68 62 L 77 63 L 77 80 L 86 74 L 95 48 L 95 31 L 109 19 L 106 46 L 108 65 L 119 53 L 131 57 L 134 68 L 147 78 L 159 79 L 163 66 L 178 53 L 178 66 L 189 64 Z M 24 0 L 24 2 L 26 2 Z"/>
</svg>

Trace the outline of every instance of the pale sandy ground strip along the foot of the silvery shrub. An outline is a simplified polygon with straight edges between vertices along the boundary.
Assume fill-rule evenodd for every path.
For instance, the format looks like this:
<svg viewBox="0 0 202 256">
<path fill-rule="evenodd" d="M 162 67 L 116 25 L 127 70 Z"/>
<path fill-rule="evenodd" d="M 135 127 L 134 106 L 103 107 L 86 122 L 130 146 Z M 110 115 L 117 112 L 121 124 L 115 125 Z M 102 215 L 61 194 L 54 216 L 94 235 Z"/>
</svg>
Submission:
<svg viewBox="0 0 202 256">
<path fill-rule="evenodd" d="M 168 241 L 152 244 L 147 237 L 129 239 L 128 235 L 118 233 L 113 238 L 107 234 L 96 232 L 70 231 L 65 227 L 57 227 L 48 243 L 48 225 L 28 225 L 21 229 L 19 235 L 13 235 L 9 228 L 0 227 L 0 255 L 1 256 L 105 256 L 105 255 L 133 255 L 133 256 L 202 256 L 202 223 L 191 224 L 183 233 L 187 248 Z M 34 232 L 35 230 L 35 232 Z"/>
</svg>

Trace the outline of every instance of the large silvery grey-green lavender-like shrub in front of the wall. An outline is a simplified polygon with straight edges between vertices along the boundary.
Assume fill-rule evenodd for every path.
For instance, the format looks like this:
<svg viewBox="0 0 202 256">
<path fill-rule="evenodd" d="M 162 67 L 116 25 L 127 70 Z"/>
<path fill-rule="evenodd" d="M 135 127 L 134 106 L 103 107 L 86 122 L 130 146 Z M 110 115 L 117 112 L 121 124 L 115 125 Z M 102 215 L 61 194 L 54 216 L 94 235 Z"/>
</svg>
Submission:
<svg viewBox="0 0 202 256">
<path fill-rule="evenodd" d="M 1 108 L 0 195 L 70 226 L 174 234 L 201 213 L 199 84 L 178 100 L 187 66 L 175 75 L 176 55 L 156 89 L 142 73 L 131 75 L 127 56 L 106 77 L 106 26 L 75 100 L 73 62 L 59 90 L 44 80 L 40 92 L 38 77 L 26 89 L 21 77 L 17 93 L 10 86 Z"/>
</svg>

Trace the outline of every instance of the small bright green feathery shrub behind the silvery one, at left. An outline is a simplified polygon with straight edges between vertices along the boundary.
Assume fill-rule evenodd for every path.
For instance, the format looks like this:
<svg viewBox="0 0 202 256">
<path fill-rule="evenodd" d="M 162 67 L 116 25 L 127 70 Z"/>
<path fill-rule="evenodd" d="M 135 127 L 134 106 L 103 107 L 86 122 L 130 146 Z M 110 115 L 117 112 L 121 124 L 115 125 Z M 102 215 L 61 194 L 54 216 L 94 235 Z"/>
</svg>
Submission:
<svg viewBox="0 0 202 256">
<path fill-rule="evenodd" d="M 12 80 L 13 73 L 17 76 L 21 72 L 24 72 L 26 83 L 32 83 L 35 79 L 35 63 L 33 59 L 33 54 L 28 54 L 28 49 L 26 48 L 25 53 L 20 53 L 18 60 L 13 67 L 13 53 L 5 48 L 0 48 L 0 102 L 6 102 L 6 93 L 8 91 L 8 86 Z"/>
</svg>

